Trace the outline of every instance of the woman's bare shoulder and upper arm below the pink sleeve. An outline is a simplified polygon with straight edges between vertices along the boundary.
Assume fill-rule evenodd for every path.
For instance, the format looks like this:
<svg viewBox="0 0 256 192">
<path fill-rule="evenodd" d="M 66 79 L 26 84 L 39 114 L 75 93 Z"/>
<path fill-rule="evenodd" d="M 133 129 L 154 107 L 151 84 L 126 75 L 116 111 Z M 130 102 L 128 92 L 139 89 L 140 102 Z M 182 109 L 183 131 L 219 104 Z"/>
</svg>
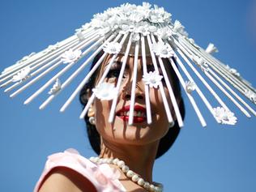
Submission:
<svg viewBox="0 0 256 192">
<path fill-rule="evenodd" d="M 66 167 L 54 168 L 42 181 L 39 192 L 96 192 L 92 182 Z"/>
</svg>

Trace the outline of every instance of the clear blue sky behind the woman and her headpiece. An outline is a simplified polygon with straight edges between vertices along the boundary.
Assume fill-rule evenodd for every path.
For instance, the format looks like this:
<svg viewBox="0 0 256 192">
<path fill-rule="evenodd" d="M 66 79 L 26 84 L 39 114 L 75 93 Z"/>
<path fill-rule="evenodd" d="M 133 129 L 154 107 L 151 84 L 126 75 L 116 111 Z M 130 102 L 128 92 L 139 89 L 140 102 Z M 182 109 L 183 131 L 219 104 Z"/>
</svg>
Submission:
<svg viewBox="0 0 256 192">
<path fill-rule="evenodd" d="M 126 1 L 88 2 L 0 2 L 0 70 L 32 51 L 72 35 L 75 28 L 89 22 L 93 14 Z M 148 2 L 164 6 L 171 12 L 173 19 L 179 19 L 186 26 L 198 45 L 207 47 L 213 42 L 220 50 L 215 56 L 239 70 L 256 86 L 255 1 Z M 39 96 L 31 105 L 22 105 L 36 87 L 12 100 L 1 90 L 0 191 L 32 191 L 46 156 L 53 152 L 74 147 L 83 156 L 95 156 L 87 141 L 84 123 L 79 121 L 79 101 L 75 100 L 66 113 L 58 113 L 73 89 L 71 86 L 44 111 L 38 110 L 44 96 Z M 256 191 L 256 118 L 248 119 L 236 110 L 237 126 L 219 126 L 203 109 L 208 122 L 207 129 L 203 129 L 185 100 L 186 126 L 172 149 L 156 160 L 154 180 L 162 182 L 168 192 Z M 231 109 L 236 109 L 227 103 Z"/>
</svg>

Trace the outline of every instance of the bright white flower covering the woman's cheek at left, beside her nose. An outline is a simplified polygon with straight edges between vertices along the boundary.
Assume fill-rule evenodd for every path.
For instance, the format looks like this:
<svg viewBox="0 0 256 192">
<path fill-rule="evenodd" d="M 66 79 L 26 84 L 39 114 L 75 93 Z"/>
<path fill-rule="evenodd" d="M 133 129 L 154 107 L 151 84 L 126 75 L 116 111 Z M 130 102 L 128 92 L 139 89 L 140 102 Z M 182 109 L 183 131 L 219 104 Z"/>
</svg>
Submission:
<svg viewBox="0 0 256 192">
<path fill-rule="evenodd" d="M 100 100 L 113 100 L 117 96 L 117 87 L 114 87 L 113 83 L 100 83 L 92 89 L 96 97 Z"/>
</svg>

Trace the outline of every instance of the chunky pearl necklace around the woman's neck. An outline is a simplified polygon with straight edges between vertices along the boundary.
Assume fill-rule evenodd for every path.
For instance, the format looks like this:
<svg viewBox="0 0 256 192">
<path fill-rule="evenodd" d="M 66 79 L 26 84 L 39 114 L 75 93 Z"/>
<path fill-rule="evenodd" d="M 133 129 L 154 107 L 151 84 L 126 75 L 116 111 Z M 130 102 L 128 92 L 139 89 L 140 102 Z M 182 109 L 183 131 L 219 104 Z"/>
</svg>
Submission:
<svg viewBox="0 0 256 192">
<path fill-rule="evenodd" d="M 126 174 L 127 177 L 130 178 L 131 181 L 142 186 L 145 190 L 151 192 L 163 192 L 163 185 L 160 183 L 153 182 L 155 185 L 150 184 L 147 181 L 144 181 L 142 177 L 139 177 L 138 174 L 134 173 L 129 167 L 125 164 L 123 160 L 112 159 L 112 158 L 100 158 L 100 157 L 90 157 L 90 159 L 95 164 L 114 164 L 117 165 L 118 168 L 122 170 L 123 173 Z"/>
</svg>

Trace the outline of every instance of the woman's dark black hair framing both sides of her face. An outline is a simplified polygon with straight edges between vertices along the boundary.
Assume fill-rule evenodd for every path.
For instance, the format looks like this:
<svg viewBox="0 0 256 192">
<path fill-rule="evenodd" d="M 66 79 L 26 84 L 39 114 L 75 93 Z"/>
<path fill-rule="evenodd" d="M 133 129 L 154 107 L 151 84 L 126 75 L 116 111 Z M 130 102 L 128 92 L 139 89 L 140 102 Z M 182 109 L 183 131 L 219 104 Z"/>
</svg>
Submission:
<svg viewBox="0 0 256 192">
<path fill-rule="evenodd" d="M 96 62 L 103 55 L 103 53 L 104 52 L 101 51 L 93 59 L 91 70 L 92 70 L 92 67 L 95 66 Z M 83 108 L 85 107 L 85 105 L 87 105 L 88 90 L 92 90 L 92 88 L 95 86 L 96 76 L 99 73 L 99 70 L 100 70 L 100 67 L 97 68 L 95 73 L 93 73 L 91 78 L 87 81 L 87 83 L 84 85 L 83 89 L 80 92 L 80 97 L 79 98 L 80 98 L 81 104 L 83 105 Z M 177 75 L 173 70 L 173 67 L 169 67 L 169 70 L 170 70 L 170 74 L 172 75 L 172 78 L 173 78 L 173 92 L 174 92 L 174 95 L 176 96 L 176 98 L 179 98 L 179 101 L 180 101 L 179 102 L 179 109 L 180 109 L 180 112 L 181 112 L 181 117 L 182 117 L 182 119 L 184 119 L 184 117 L 185 117 L 185 106 L 184 106 L 183 99 L 181 97 L 181 86 L 180 86 L 179 80 L 177 79 Z M 84 121 L 86 122 L 87 135 L 88 135 L 88 139 L 90 141 L 90 144 L 92 146 L 92 149 L 96 152 L 96 154 L 99 155 L 100 154 L 100 134 L 97 132 L 96 126 L 93 126 L 89 122 L 89 117 L 87 117 L 87 115 L 84 116 Z M 160 139 L 159 147 L 158 147 L 158 150 L 156 152 L 156 159 L 158 157 L 164 155 L 164 153 L 169 150 L 169 148 L 173 145 L 174 141 L 177 139 L 177 135 L 179 133 L 180 133 L 180 127 L 178 126 L 177 121 L 176 121 L 175 125 L 173 127 L 170 127 L 167 134 L 165 134 L 164 137 L 162 139 Z"/>
</svg>

